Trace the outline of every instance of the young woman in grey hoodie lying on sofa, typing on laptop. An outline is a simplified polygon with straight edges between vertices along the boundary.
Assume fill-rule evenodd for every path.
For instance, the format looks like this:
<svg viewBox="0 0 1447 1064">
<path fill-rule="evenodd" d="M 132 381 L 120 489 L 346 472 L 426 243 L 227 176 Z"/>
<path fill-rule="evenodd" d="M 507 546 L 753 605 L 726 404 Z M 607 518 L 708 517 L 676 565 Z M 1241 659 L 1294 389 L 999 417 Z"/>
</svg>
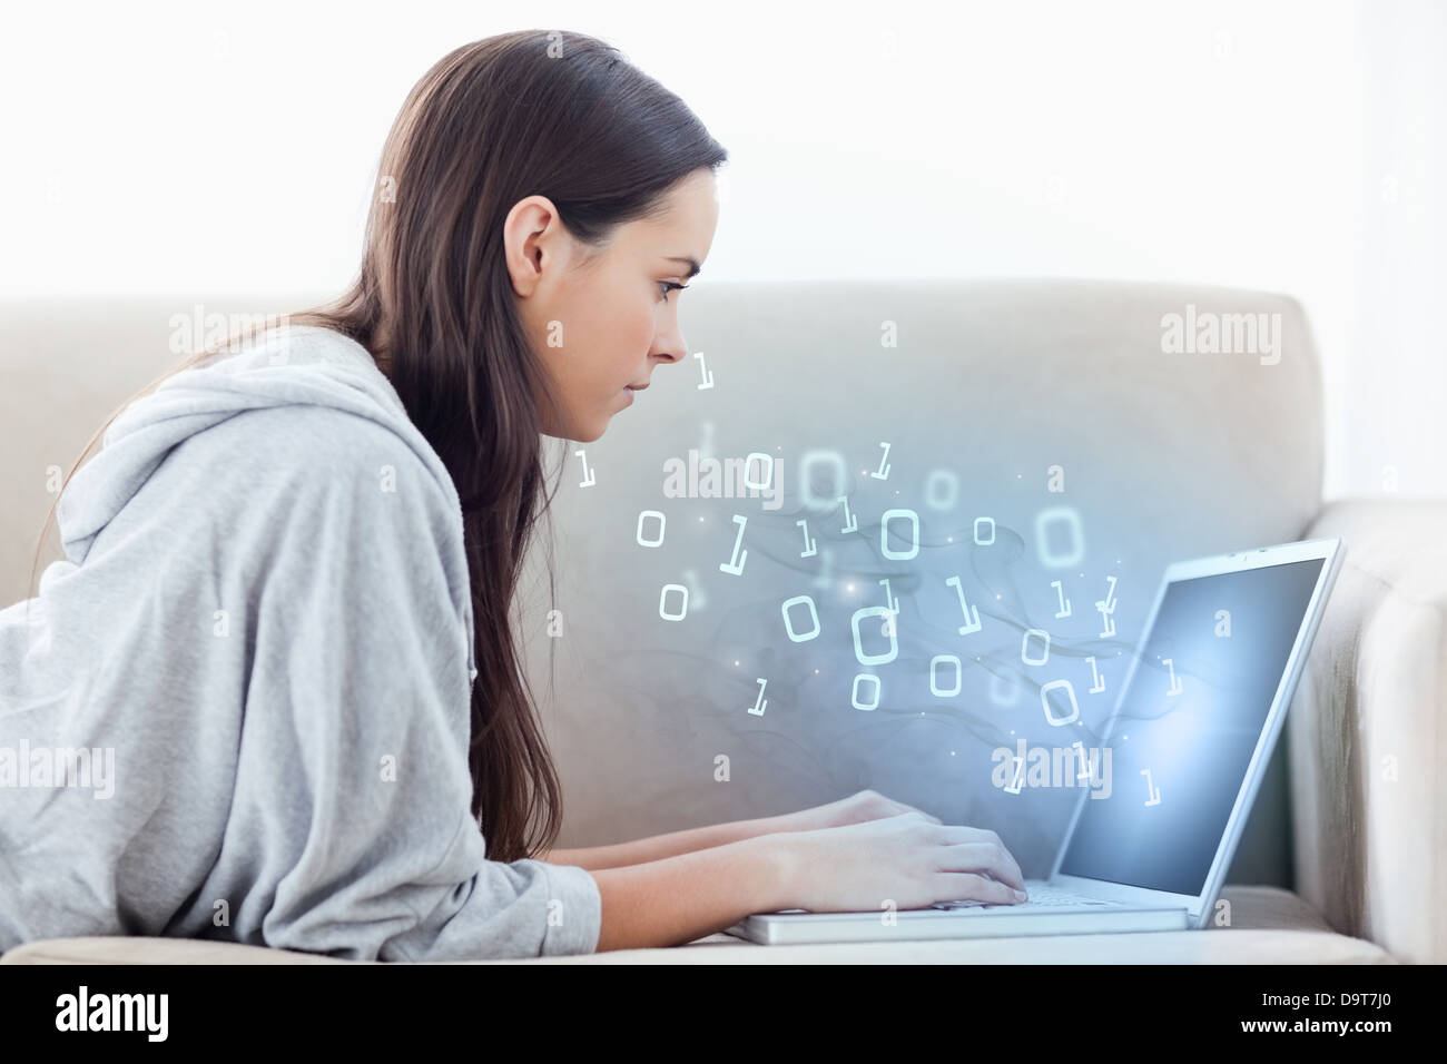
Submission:
<svg viewBox="0 0 1447 1064">
<path fill-rule="evenodd" d="M 994 832 L 873 792 L 548 850 L 560 788 L 508 617 L 541 436 L 596 440 L 684 358 L 673 292 L 725 161 L 593 38 L 504 33 L 428 71 L 350 291 L 111 418 L 55 511 L 67 560 L 0 611 L 0 950 L 522 957 L 1020 899 Z"/>
</svg>

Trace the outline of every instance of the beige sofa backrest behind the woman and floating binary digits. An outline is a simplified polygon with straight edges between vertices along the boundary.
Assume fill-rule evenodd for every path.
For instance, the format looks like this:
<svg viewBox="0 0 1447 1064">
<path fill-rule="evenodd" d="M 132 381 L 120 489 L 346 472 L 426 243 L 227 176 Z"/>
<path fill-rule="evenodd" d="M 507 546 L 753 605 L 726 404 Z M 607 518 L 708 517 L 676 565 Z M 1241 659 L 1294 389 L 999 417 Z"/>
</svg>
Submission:
<svg viewBox="0 0 1447 1064">
<path fill-rule="evenodd" d="M 320 298 L 4 305 L 0 599 L 27 594 L 54 468 L 178 360 L 174 314 Z M 540 544 L 519 601 L 561 845 L 874 788 L 996 828 L 1043 874 L 1078 790 L 991 780 L 993 751 L 1066 731 L 1042 685 L 1068 679 L 1098 725 L 1168 562 L 1298 539 L 1321 507 L 1320 371 L 1283 295 L 719 282 L 682 316 L 692 356 L 601 440 L 556 447 L 559 583 Z M 58 556 L 52 531 L 41 569 Z M 855 627 L 887 601 L 893 641 L 880 609 Z M 961 636 L 968 608 L 981 627 Z M 1289 884 L 1281 761 L 1233 882 Z"/>
</svg>

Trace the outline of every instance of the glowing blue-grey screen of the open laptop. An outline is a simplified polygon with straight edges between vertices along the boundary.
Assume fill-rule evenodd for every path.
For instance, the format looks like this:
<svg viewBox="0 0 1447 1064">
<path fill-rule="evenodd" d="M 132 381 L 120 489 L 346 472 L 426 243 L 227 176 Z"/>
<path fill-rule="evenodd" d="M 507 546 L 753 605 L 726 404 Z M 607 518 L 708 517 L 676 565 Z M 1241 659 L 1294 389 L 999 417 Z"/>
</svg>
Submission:
<svg viewBox="0 0 1447 1064">
<path fill-rule="evenodd" d="M 1205 889 L 1323 565 L 1166 585 L 1106 738 L 1110 796 L 1084 802 L 1061 874 Z"/>
</svg>

